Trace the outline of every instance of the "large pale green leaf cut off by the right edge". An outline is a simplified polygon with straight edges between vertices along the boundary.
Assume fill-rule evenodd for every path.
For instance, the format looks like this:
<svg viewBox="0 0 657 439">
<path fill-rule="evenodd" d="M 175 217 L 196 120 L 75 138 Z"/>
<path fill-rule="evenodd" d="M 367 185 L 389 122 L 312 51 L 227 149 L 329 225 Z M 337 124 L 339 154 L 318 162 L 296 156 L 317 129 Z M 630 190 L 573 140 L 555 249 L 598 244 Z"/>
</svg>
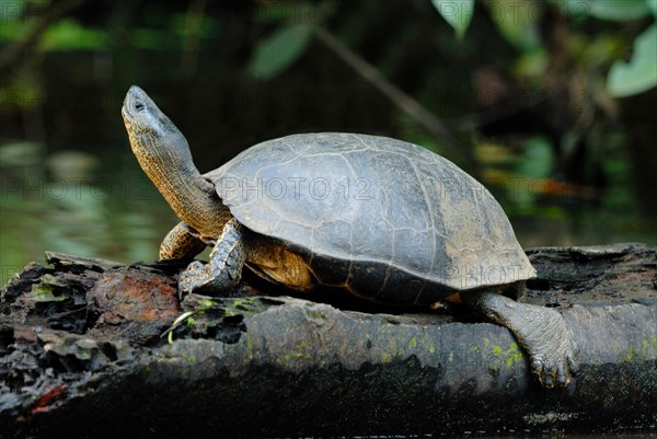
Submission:
<svg viewBox="0 0 657 439">
<path fill-rule="evenodd" d="M 657 25 L 653 24 L 634 39 L 630 62 L 611 66 L 607 90 L 612 96 L 631 96 L 657 85 Z"/>
</svg>

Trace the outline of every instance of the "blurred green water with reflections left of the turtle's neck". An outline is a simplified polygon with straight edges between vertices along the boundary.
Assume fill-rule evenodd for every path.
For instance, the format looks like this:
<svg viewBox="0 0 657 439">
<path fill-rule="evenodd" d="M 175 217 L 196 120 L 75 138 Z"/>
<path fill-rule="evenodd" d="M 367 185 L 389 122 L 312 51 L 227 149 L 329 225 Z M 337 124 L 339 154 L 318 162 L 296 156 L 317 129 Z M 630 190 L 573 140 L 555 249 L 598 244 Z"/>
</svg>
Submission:
<svg viewBox="0 0 657 439">
<path fill-rule="evenodd" d="M 2 284 L 27 262 L 43 262 L 44 250 L 126 263 L 157 258 L 176 219 L 129 158 L 45 158 L 34 143 L 2 150 L 10 151 L 0 170 Z"/>
</svg>

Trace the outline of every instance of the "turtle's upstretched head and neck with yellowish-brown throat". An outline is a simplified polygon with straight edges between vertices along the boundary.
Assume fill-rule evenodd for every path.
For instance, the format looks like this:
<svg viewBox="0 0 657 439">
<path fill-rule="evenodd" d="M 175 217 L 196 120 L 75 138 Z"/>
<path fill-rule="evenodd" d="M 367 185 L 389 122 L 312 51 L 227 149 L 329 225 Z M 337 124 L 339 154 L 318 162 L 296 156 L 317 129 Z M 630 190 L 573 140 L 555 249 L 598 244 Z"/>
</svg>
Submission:
<svg viewBox="0 0 657 439">
<path fill-rule="evenodd" d="M 185 136 L 137 85 L 128 90 L 120 113 L 141 169 L 178 218 L 207 236 L 218 234 L 227 208 L 194 165 Z"/>
</svg>

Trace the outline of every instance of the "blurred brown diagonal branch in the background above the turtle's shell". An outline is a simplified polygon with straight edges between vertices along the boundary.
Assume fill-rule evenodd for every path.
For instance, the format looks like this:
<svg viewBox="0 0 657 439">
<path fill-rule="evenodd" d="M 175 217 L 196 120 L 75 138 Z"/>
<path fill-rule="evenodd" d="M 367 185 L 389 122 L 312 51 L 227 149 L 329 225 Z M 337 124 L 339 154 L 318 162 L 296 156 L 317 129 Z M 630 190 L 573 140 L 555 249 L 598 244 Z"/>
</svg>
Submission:
<svg viewBox="0 0 657 439">
<path fill-rule="evenodd" d="M 388 81 L 376 67 L 354 53 L 328 32 L 321 27 L 316 27 L 314 32 L 318 38 L 342 58 L 343 61 L 379 89 L 393 104 L 402 108 L 408 116 L 413 117 L 431 132 L 440 141 L 441 146 L 460 159 L 465 160 L 472 169 L 476 167 L 473 155 L 470 153 L 470 148 L 460 143 L 438 117 L 415 99 Z"/>
</svg>

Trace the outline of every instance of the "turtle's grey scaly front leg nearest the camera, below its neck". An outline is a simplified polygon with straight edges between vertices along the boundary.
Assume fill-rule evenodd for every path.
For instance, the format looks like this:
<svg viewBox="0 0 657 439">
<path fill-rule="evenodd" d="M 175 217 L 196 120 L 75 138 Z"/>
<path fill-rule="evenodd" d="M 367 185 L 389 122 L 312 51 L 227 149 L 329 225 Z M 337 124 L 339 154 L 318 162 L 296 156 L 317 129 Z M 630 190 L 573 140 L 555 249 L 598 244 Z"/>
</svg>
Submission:
<svg viewBox="0 0 657 439">
<path fill-rule="evenodd" d="M 223 226 L 209 263 L 194 261 L 181 273 L 178 296 L 182 298 L 191 292 L 211 294 L 237 286 L 245 261 L 241 227 L 233 218 Z"/>
</svg>

